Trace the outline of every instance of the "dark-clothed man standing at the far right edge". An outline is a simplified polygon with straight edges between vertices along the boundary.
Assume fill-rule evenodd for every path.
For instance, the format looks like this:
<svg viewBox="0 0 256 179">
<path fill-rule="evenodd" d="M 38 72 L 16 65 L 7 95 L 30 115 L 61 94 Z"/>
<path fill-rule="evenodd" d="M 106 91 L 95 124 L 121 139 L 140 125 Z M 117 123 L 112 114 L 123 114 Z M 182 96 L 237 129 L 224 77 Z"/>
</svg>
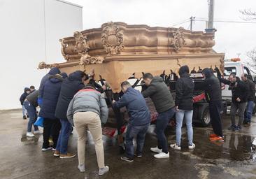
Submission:
<svg viewBox="0 0 256 179">
<path fill-rule="evenodd" d="M 243 73 L 241 79 L 248 85 L 249 87 L 249 95 L 248 95 L 248 103 L 246 107 L 245 119 L 243 124 L 245 127 L 250 127 L 250 120 L 253 115 L 253 104 L 255 101 L 255 83 L 248 79 L 248 74 Z"/>
</svg>

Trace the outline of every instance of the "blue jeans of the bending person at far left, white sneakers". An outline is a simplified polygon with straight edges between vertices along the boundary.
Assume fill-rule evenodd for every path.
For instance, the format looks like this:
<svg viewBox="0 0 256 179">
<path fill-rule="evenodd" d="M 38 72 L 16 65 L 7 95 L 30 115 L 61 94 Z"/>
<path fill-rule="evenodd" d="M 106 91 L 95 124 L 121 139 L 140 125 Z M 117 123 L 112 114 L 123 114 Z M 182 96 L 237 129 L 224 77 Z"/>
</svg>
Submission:
<svg viewBox="0 0 256 179">
<path fill-rule="evenodd" d="M 27 123 L 27 132 L 31 132 L 32 126 L 36 122 L 37 114 L 36 108 L 29 103 L 29 101 L 24 101 L 23 105 L 27 109 L 27 114 L 29 115 L 29 122 Z M 34 125 L 34 130 L 38 131 L 38 127 Z"/>
</svg>

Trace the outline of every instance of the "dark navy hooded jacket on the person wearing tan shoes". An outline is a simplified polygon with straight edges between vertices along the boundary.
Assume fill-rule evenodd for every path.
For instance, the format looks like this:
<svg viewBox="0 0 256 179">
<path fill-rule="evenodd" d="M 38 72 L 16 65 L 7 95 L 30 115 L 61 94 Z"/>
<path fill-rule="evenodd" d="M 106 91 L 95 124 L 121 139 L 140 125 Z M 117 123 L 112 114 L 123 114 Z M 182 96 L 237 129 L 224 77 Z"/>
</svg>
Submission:
<svg viewBox="0 0 256 179">
<path fill-rule="evenodd" d="M 59 93 L 59 99 L 55 110 L 55 116 L 58 119 L 68 120 L 66 111 L 73 96 L 85 85 L 82 82 L 82 71 L 75 71 L 69 74 L 69 77 L 64 80 Z"/>
</svg>

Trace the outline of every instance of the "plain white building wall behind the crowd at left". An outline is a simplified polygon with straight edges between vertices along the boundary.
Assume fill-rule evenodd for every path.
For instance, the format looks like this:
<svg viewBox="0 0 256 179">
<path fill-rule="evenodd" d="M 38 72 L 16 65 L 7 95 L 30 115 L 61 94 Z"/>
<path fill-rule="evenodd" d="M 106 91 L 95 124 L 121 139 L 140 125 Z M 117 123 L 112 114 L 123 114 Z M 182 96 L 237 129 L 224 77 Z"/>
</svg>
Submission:
<svg viewBox="0 0 256 179">
<path fill-rule="evenodd" d="M 20 108 L 24 87 L 38 89 L 47 73 L 39 62 L 64 62 L 59 38 L 83 29 L 82 10 L 57 0 L 0 0 L 0 110 Z"/>
</svg>

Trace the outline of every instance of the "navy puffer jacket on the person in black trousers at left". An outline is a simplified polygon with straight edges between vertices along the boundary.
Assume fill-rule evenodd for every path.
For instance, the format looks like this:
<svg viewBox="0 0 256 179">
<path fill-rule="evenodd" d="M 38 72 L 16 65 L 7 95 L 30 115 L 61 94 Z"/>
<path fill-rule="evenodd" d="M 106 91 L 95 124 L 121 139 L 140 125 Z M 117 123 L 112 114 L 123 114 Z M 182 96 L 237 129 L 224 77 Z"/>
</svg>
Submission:
<svg viewBox="0 0 256 179">
<path fill-rule="evenodd" d="M 62 87 L 62 81 L 64 79 L 60 75 L 50 76 L 45 82 L 42 90 L 41 97 L 43 98 L 43 104 L 39 116 L 48 119 L 56 119 L 55 109 L 59 98 L 60 88 Z"/>
</svg>

